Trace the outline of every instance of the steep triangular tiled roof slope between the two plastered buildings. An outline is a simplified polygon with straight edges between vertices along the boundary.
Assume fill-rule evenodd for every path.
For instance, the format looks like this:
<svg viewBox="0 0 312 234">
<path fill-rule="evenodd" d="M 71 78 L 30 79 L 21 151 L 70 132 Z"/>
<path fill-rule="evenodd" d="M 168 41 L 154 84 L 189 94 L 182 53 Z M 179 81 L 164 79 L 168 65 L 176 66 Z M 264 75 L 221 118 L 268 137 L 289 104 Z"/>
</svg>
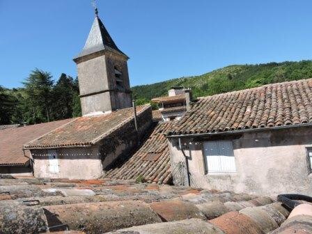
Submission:
<svg viewBox="0 0 312 234">
<path fill-rule="evenodd" d="M 158 123 L 143 146 L 122 166 L 107 171 L 105 177 L 135 179 L 142 176 L 149 182 L 166 184 L 171 180 L 169 147 L 164 134 L 173 122 Z"/>
</svg>

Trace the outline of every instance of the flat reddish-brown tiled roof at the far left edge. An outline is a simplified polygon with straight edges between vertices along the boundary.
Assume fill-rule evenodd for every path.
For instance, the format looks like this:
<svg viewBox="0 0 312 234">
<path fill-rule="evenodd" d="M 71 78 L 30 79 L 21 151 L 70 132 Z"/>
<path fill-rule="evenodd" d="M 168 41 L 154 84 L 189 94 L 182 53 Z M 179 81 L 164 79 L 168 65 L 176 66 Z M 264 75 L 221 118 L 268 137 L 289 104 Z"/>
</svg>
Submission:
<svg viewBox="0 0 312 234">
<path fill-rule="evenodd" d="M 40 123 L 26 127 L 14 127 L 0 131 L 0 164 L 17 165 L 25 164 L 29 158 L 24 157 L 23 145 L 50 132 L 65 123 L 72 121 L 59 120 L 49 123 Z M 26 152 L 29 156 L 29 153 Z"/>
</svg>

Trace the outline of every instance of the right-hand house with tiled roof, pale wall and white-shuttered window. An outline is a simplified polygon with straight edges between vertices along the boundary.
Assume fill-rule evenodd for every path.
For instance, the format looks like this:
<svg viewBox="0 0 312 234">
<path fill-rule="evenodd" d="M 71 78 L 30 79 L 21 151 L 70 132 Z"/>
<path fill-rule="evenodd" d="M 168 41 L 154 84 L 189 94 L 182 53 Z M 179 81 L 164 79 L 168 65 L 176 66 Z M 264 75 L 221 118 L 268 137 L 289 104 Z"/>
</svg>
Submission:
<svg viewBox="0 0 312 234">
<path fill-rule="evenodd" d="M 312 192 L 312 79 L 201 98 L 169 131 L 176 184 Z"/>
</svg>

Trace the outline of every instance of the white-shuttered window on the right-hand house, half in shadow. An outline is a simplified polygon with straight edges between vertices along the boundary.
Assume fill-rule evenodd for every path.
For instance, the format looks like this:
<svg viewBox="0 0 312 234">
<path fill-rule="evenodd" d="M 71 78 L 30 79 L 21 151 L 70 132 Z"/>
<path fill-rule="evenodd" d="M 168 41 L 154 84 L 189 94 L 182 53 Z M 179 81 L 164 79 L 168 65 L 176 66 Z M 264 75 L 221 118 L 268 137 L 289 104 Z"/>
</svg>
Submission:
<svg viewBox="0 0 312 234">
<path fill-rule="evenodd" d="M 205 141 L 203 153 L 206 173 L 236 172 L 232 141 Z"/>
</svg>

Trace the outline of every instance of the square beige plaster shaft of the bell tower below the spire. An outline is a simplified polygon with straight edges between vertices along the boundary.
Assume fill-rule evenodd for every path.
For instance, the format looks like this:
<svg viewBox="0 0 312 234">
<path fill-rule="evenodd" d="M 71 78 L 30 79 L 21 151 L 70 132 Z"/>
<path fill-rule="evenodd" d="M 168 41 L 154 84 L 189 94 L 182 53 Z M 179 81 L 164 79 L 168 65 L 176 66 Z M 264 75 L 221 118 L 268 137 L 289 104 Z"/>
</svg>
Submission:
<svg viewBox="0 0 312 234">
<path fill-rule="evenodd" d="M 122 73 L 123 90 L 117 90 L 115 66 Z M 91 54 L 83 60 L 79 60 L 77 70 L 83 115 L 132 106 L 125 57 L 111 52 Z"/>
</svg>

